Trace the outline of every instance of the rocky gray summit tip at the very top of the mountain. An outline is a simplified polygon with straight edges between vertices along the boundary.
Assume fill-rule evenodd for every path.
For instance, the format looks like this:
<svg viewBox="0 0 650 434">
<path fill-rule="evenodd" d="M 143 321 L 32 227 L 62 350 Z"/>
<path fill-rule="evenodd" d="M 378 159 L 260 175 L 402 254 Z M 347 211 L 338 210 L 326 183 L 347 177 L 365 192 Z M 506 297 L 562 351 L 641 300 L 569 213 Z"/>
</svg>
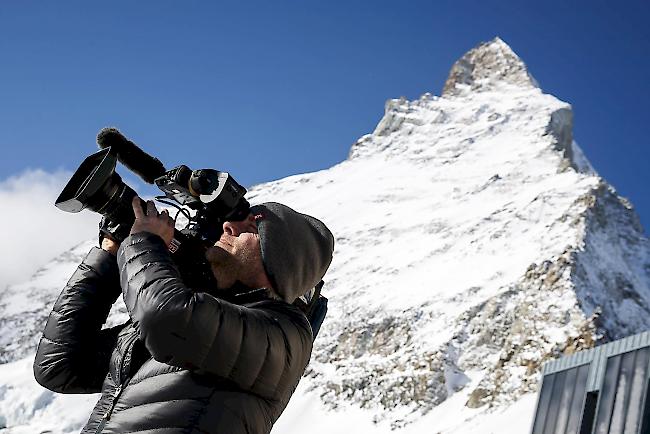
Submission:
<svg viewBox="0 0 650 434">
<path fill-rule="evenodd" d="M 493 88 L 499 83 L 539 87 L 526 64 L 499 37 L 482 42 L 454 63 L 442 89 L 442 96 L 458 95 L 469 87 L 473 91 Z"/>
</svg>

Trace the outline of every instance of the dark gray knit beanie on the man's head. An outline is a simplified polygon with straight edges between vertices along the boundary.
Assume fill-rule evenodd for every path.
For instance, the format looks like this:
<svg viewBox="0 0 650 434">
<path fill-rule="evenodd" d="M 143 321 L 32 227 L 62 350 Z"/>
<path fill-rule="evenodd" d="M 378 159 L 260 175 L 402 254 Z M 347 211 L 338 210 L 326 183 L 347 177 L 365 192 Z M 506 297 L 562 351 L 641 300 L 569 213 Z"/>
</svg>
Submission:
<svg viewBox="0 0 650 434">
<path fill-rule="evenodd" d="M 262 262 L 275 291 L 288 303 L 323 278 L 332 262 L 334 236 L 320 220 L 276 202 L 251 207 Z"/>
</svg>

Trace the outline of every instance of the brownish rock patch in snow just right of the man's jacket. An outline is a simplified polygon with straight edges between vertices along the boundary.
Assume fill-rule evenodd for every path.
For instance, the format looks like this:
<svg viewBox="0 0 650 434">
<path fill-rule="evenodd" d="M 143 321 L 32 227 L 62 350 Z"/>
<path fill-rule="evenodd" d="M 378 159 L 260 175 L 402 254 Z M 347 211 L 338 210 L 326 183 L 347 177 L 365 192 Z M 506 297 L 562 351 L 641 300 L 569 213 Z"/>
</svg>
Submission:
<svg viewBox="0 0 650 434">
<path fill-rule="evenodd" d="M 404 318 L 412 317 L 412 313 L 404 312 Z M 411 334 L 409 322 L 403 318 L 349 323 L 338 342 L 319 351 L 316 359 L 339 373 L 325 377 L 312 363 L 306 373 L 312 379 L 312 389 L 321 390 L 324 403 L 333 409 L 350 400 L 362 408 L 386 411 L 412 407 L 419 413 L 434 408 L 468 379 L 456 366 L 453 351 L 447 347 L 435 352 L 424 350 L 412 341 Z M 376 420 L 388 415 L 377 415 Z M 400 423 L 408 420 L 402 416 Z"/>
</svg>

